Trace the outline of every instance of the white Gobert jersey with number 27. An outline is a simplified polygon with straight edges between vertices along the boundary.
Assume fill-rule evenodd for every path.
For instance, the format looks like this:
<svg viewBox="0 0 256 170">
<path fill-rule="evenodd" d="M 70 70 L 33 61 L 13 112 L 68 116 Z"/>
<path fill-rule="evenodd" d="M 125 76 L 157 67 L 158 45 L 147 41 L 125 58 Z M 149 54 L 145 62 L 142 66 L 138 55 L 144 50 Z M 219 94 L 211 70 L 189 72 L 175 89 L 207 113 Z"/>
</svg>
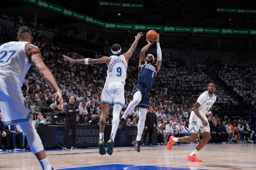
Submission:
<svg viewBox="0 0 256 170">
<path fill-rule="evenodd" d="M 25 41 L 11 41 L 0 46 L 0 76 L 21 87 L 31 64 L 25 53 Z"/>
</svg>

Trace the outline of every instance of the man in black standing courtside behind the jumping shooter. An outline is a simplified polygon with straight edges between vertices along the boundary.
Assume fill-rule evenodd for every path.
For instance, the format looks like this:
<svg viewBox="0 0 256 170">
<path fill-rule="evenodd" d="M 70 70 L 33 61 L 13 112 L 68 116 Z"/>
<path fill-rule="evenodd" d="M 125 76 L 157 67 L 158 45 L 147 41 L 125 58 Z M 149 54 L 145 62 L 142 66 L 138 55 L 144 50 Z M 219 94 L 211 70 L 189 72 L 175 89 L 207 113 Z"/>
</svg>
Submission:
<svg viewBox="0 0 256 170">
<path fill-rule="evenodd" d="M 155 114 L 155 112 L 153 112 L 153 107 L 149 106 L 148 113 L 146 115 L 146 120 L 145 120 L 145 131 L 144 131 L 144 136 L 143 136 L 143 140 L 142 140 L 142 146 L 145 145 L 146 138 L 148 136 L 148 132 L 149 132 L 148 144 L 149 144 L 149 146 L 152 146 L 152 136 L 153 136 L 153 132 L 154 132 L 154 124 L 157 127 L 156 114 Z"/>
</svg>

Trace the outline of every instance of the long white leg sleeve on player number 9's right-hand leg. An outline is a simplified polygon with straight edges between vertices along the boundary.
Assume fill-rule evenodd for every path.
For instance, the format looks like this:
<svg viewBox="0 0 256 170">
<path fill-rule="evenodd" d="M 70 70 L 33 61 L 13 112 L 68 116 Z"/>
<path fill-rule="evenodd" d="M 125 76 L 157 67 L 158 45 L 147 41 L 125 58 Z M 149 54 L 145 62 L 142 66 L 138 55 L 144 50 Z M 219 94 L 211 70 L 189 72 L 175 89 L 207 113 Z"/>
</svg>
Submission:
<svg viewBox="0 0 256 170">
<path fill-rule="evenodd" d="M 118 128 L 119 124 L 119 117 L 120 117 L 120 112 L 122 110 L 122 106 L 119 104 L 114 104 L 113 108 L 113 120 L 112 120 L 112 129 L 111 129 L 111 134 L 110 134 L 110 139 L 115 140 L 116 137 L 116 130 Z"/>
</svg>

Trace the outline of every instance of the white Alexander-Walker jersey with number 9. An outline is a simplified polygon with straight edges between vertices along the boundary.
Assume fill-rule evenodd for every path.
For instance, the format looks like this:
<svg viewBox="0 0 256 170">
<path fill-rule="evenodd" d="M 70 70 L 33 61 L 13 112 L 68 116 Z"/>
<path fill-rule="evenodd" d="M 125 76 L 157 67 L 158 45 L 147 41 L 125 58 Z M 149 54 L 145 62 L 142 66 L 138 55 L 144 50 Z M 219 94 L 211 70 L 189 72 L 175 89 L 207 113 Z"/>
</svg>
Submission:
<svg viewBox="0 0 256 170">
<path fill-rule="evenodd" d="M 121 81 L 125 85 L 127 63 L 124 55 L 111 55 L 108 64 L 108 76 L 106 83 L 110 81 Z"/>
</svg>

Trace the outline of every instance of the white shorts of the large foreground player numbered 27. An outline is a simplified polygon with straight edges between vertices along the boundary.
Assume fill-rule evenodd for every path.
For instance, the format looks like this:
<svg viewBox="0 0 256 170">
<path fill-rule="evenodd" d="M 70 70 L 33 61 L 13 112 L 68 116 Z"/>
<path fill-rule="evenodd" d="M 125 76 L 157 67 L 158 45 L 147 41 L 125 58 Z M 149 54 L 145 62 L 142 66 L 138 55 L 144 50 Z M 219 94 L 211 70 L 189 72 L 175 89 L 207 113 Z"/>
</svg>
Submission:
<svg viewBox="0 0 256 170">
<path fill-rule="evenodd" d="M 25 107 L 25 99 L 22 96 L 18 83 L 10 84 L 0 75 L 0 110 L 4 125 L 18 124 L 30 119 L 30 112 Z"/>
</svg>

